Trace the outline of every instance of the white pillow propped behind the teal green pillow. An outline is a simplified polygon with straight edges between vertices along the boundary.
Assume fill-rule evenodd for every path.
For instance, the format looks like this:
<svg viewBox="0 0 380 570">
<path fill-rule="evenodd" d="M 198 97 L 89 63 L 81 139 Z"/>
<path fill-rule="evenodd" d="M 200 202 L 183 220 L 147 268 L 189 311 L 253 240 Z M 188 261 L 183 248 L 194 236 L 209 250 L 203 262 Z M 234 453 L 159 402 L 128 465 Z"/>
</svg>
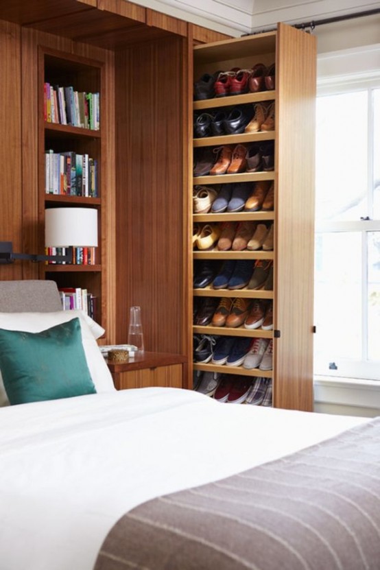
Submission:
<svg viewBox="0 0 380 570">
<path fill-rule="evenodd" d="M 40 333 L 75 317 L 80 319 L 84 354 L 96 391 L 112 392 L 115 390 L 112 376 L 95 341 L 102 336 L 104 329 L 83 311 L 73 309 L 54 313 L 0 313 L 0 329 Z M 9 405 L 9 401 L 0 372 L 0 407 L 4 405 Z"/>
</svg>

